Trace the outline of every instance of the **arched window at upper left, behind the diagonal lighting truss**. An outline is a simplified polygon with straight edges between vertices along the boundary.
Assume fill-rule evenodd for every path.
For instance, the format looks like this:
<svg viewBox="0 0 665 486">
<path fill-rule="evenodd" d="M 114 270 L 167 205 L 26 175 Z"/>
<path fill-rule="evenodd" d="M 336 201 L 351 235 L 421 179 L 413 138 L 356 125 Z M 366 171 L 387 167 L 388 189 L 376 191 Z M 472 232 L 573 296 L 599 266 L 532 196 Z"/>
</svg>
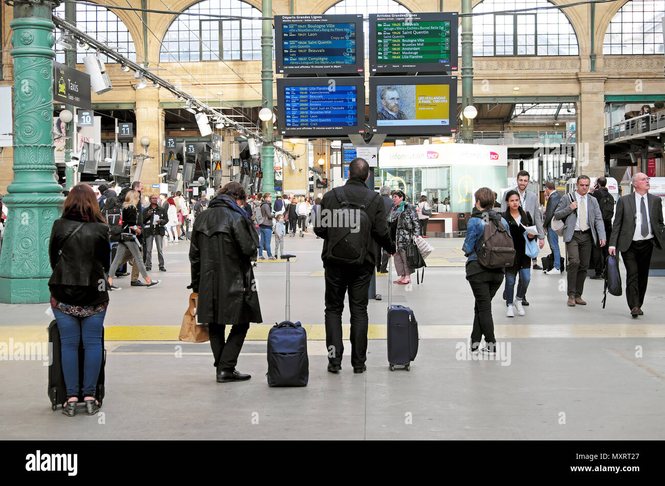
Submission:
<svg viewBox="0 0 665 486">
<path fill-rule="evenodd" d="M 64 19 L 65 3 L 63 2 L 53 9 L 53 13 Z M 134 47 L 132 35 L 129 33 L 127 27 L 125 27 L 122 20 L 105 7 L 77 3 L 76 27 L 106 45 L 117 47 L 120 55 L 123 55 L 132 61 L 136 61 L 136 47 Z M 60 30 L 55 29 L 55 38 L 58 39 L 59 37 Z M 76 46 L 76 62 L 82 63 L 83 57 L 86 54 L 90 54 L 90 52 L 85 51 L 78 45 Z M 57 53 L 55 60 L 64 64 L 65 53 Z M 104 55 L 102 55 L 102 61 L 114 62 Z"/>
</svg>

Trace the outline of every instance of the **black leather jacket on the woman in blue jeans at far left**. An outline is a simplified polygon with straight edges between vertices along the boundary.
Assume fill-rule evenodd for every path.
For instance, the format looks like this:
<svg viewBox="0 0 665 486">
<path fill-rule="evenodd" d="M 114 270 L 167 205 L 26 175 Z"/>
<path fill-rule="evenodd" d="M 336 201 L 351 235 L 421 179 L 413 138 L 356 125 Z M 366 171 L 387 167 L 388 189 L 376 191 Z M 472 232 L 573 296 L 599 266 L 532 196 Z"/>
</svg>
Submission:
<svg viewBox="0 0 665 486">
<path fill-rule="evenodd" d="M 49 240 L 53 274 L 49 289 L 55 299 L 65 304 L 99 304 L 108 301 L 105 284 L 111 256 L 108 225 L 84 222 L 65 244 L 80 223 L 73 216 L 61 217 L 53 223 Z"/>
</svg>

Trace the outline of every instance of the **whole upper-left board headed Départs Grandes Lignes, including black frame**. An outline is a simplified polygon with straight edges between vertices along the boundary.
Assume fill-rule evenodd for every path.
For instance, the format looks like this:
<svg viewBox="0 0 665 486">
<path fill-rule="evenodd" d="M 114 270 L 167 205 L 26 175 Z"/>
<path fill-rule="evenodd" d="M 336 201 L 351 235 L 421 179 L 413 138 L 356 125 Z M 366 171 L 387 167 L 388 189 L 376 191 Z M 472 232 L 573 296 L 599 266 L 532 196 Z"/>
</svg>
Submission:
<svg viewBox="0 0 665 486">
<path fill-rule="evenodd" d="M 277 15 L 275 64 L 280 74 L 362 72 L 362 15 Z"/>
</svg>

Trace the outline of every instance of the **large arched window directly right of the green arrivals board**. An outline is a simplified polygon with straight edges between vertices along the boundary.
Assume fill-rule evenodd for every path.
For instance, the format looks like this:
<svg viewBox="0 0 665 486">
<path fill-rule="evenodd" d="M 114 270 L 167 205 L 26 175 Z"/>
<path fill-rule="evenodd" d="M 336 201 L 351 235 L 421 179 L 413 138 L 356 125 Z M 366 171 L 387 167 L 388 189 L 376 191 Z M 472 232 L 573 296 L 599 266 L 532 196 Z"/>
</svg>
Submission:
<svg viewBox="0 0 665 486">
<path fill-rule="evenodd" d="M 547 0 L 484 0 L 473 13 L 549 7 Z M 462 28 L 459 53 L 462 56 Z M 474 56 L 578 56 L 575 30 L 559 9 L 473 17 Z"/>
</svg>

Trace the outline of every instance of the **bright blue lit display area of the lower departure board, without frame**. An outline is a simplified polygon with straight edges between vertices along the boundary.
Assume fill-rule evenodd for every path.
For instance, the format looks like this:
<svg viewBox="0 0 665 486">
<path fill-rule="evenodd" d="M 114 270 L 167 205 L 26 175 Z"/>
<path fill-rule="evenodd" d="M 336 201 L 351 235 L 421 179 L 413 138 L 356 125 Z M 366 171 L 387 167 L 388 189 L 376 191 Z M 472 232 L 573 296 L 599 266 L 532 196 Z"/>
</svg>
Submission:
<svg viewBox="0 0 665 486">
<path fill-rule="evenodd" d="M 284 86 L 287 128 L 358 125 L 357 86 Z"/>
</svg>

